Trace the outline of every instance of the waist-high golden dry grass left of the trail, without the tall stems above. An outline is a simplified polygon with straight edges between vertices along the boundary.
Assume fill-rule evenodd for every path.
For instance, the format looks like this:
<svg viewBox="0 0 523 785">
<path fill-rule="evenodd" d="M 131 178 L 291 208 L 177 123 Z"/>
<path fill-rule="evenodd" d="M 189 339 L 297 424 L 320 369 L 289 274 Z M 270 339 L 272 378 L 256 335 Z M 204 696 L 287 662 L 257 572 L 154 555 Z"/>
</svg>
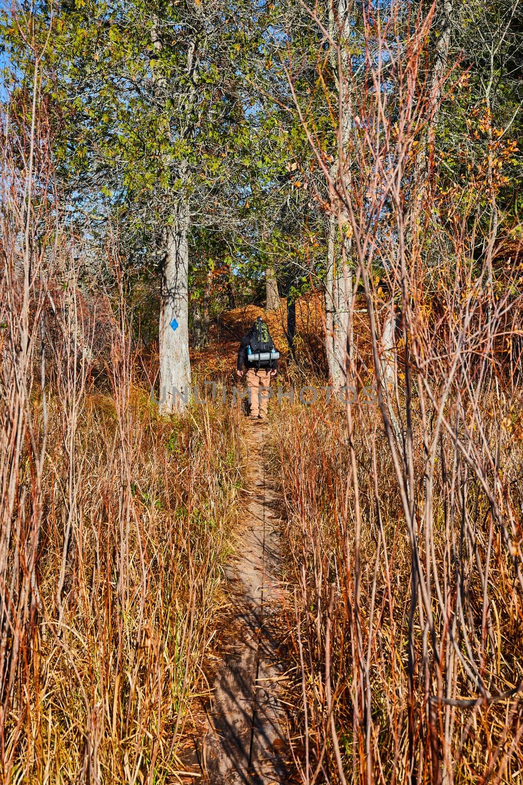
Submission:
<svg viewBox="0 0 523 785">
<path fill-rule="evenodd" d="M 71 433 L 67 401 L 46 405 L 42 473 L 22 456 L 6 538 L 5 781 L 176 782 L 242 483 L 236 415 L 162 422 L 118 385 L 76 401 Z"/>
</svg>

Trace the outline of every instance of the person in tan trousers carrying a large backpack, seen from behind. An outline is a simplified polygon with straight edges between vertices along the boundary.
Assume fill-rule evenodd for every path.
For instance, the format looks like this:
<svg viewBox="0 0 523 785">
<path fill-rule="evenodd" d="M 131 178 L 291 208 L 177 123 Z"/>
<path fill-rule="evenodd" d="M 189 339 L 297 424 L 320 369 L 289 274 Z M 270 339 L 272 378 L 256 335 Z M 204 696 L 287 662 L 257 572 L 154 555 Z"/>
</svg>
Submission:
<svg viewBox="0 0 523 785">
<path fill-rule="evenodd" d="M 267 324 L 258 316 L 252 329 L 242 338 L 236 371 L 242 376 L 244 367 L 247 369 L 251 420 L 267 419 L 271 377 L 278 371 L 279 356 Z"/>
</svg>

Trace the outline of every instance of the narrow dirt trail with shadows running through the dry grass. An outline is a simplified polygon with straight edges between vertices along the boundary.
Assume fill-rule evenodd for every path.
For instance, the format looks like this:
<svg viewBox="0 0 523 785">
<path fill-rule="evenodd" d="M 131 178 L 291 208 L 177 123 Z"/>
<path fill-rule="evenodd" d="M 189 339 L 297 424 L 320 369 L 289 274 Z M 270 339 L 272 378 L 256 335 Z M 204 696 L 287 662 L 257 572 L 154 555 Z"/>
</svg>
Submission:
<svg viewBox="0 0 523 785">
<path fill-rule="evenodd" d="M 285 712 L 279 699 L 281 602 L 278 498 L 266 476 L 267 426 L 246 423 L 243 437 L 254 483 L 238 557 L 227 569 L 237 630 L 212 684 L 208 731 L 198 758 L 212 785 L 283 785 L 289 772 Z"/>
</svg>

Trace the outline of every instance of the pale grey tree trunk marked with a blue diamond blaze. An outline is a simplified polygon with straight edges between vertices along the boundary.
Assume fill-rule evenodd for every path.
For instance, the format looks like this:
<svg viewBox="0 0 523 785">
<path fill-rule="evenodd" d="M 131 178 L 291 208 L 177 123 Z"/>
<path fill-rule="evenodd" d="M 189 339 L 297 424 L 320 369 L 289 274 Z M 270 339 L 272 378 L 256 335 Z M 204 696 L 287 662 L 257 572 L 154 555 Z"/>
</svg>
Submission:
<svg viewBox="0 0 523 785">
<path fill-rule="evenodd" d="M 188 388 L 191 385 L 187 291 L 189 271 L 187 203 L 178 202 L 175 210 L 173 225 L 165 228 L 159 330 L 160 414 L 183 411 L 189 399 Z M 177 394 L 176 390 L 180 394 Z"/>
</svg>

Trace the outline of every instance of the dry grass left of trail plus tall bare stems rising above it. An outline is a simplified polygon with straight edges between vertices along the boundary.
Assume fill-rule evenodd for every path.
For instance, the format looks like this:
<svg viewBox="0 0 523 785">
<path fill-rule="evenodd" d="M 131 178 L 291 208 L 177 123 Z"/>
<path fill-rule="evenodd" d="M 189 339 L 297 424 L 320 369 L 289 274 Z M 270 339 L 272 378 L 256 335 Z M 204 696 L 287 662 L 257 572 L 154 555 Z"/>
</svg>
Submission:
<svg viewBox="0 0 523 785">
<path fill-rule="evenodd" d="M 117 257 L 113 296 L 89 305 L 37 104 L 38 57 L 32 116 L 0 145 L 2 782 L 176 782 L 236 522 L 238 412 L 158 418 Z"/>
</svg>

